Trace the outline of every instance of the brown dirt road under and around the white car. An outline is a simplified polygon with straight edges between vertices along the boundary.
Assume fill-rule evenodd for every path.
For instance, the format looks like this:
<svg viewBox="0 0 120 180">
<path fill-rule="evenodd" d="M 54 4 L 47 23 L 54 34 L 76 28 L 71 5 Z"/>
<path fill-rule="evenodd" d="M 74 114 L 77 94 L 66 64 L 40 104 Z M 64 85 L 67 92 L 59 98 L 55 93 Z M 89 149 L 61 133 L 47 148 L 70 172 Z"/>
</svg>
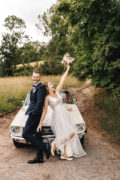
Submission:
<svg viewBox="0 0 120 180">
<path fill-rule="evenodd" d="M 50 157 L 43 164 L 27 164 L 36 151 L 17 149 L 9 137 L 9 127 L 16 112 L 0 118 L 0 180 L 120 180 L 120 146 L 109 142 L 109 135 L 98 130 L 94 103 L 88 98 L 93 89 L 70 89 L 88 127 L 84 148 L 87 155 L 73 161 Z"/>
</svg>

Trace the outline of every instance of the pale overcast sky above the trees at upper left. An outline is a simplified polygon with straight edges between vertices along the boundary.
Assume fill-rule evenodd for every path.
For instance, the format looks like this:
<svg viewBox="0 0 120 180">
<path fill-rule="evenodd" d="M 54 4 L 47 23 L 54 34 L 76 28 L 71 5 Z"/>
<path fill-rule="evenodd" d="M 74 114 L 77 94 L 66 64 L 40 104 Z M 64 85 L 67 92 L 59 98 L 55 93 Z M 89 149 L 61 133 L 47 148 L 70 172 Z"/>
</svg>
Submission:
<svg viewBox="0 0 120 180">
<path fill-rule="evenodd" d="M 42 15 L 57 0 L 0 0 L 0 41 L 2 33 L 5 32 L 3 26 L 6 17 L 15 15 L 22 18 L 26 24 L 26 34 L 31 37 L 32 41 L 48 42 L 49 38 L 35 27 L 38 22 L 37 16 Z"/>
</svg>

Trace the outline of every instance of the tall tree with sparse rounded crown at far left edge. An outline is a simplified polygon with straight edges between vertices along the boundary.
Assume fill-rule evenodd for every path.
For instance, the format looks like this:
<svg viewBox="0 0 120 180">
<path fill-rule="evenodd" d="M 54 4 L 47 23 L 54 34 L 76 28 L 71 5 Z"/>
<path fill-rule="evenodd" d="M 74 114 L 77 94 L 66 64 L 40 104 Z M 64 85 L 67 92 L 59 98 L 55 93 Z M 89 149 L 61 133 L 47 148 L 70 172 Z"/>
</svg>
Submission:
<svg viewBox="0 0 120 180">
<path fill-rule="evenodd" d="M 19 45 L 28 40 L 28 36 L 24 35 L 25 22 L 16 16 L 8 16 L 4 26 L 8 32 L 3 34 L 0 46 L 0 61 L 3 62 L 2 75 L 13 76 L 19 59 Z"/>
</svg>

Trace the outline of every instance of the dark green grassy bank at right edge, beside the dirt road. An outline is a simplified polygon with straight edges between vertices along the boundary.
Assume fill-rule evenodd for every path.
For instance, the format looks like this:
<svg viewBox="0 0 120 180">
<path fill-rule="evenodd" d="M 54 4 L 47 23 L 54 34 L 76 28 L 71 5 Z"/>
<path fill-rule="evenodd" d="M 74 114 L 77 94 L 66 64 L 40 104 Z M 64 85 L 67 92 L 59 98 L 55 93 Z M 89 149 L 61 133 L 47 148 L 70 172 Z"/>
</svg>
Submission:
<svg viewBox="0 0 120 180">
<path fill-rule="evenodd" d="M 100 109 L 98 113 L 101 126 L 117 141 L 120 140 L 120 97 L 106 92 L 95 96 L 95 104 Z"/>
</svg>

